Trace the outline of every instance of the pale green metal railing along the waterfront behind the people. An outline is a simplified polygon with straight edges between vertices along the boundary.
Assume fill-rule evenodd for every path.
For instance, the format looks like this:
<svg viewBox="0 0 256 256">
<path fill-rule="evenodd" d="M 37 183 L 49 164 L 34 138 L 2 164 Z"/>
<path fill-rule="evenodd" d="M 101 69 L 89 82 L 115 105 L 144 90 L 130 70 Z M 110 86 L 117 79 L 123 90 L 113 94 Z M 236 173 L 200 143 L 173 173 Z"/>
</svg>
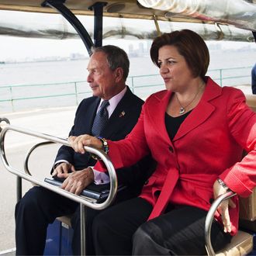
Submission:
<svg viewBox="0 0 256 256">
<path fill-rule="evenodd" d="M 251 68 L 211 69 L 207 75 L 221 86 L 250 85 Z M 159 74 L 130 76 L 126 83 L 142 99 L 164 89 L 164 83 Z M 31 107 L 77 106 L 81 99 L 91 96 L 92 92 L 87 86 L 87 81 L 67 81 L 33 85 L 5 85 L 0 87 L 0 94 L 2 111 L 14 112 L 17 109 L 31 109 Z"/>
</svg>

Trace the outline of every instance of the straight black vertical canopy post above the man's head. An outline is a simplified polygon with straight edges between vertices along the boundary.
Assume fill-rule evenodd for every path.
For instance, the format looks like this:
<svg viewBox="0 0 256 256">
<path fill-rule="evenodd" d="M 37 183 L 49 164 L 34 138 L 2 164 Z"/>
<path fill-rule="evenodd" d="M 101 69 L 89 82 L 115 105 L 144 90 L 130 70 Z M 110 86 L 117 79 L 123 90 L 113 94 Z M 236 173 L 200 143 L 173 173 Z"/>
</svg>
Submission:
<svg viewBox="0 0 256 256">
<path fill-rule="evenodd" d="M 95 2 L 94 5 L 90 6 L 89 10 L 94 10 L 94 45 L 95 47 L 102 47 L 102 34 L 103 34 L 103 7 L 106 2 Z"/>
</svg>

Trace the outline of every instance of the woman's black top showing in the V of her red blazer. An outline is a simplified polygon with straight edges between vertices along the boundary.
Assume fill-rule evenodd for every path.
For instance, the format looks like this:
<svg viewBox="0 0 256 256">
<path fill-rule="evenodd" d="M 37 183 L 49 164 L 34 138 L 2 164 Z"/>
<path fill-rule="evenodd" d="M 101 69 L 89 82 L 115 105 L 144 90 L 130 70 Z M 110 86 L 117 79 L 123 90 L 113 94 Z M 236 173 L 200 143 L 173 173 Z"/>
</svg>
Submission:
<svg viewBox="0 0 256 256">
<path fill-rule="evenodd" d="M 191 112 L 192 110 L 190 110 L 189 112 L 186 112 L 182 116 L 177 116 L 177 117 L 169 116 L 168 113 L 165 112 L 164 122 L 165 122 L 166 130 L 171 140 L 173 140 L 176 133 L 178 132 L 179 126 L 181 126 L 182 122 L 185 120 L 187 116 L 189 116 Z"/>
</svg>

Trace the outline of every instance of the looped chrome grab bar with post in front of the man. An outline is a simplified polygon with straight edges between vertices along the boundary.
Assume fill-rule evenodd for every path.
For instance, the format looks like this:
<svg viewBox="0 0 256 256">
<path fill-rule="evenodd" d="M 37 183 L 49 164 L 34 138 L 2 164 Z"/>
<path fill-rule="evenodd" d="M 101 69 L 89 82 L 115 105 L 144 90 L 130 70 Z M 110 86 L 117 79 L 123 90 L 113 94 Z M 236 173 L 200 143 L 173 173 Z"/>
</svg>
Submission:
<svg viewBox="0 0 256 256">
<path fill-rule="evenodd" d="M 116 196 L 116 191 L 117 191 L 117 178 L 116 178 L 116 171 L 115 168 L 112 165 L 112 162 L 109 159 L 109 156 L 107 154 L 105 154 L 105 152 L 103 150 L 97 150 L 93 147 L 88 147 L 85 146 L 85 150 L 89 153 L 92 154 L 96 154 L 98 157 L 100 157 L 102 159 L 102 161 L 104 162 L 104 164 L 106 165 L 107 171 L 109 171 L 109 178 L 110 178 L 110 189 L 109 189 L 109 196 L 107 197 L 106 201 L 104 202 L 95 202 L 95 200 L 93 199 L 88 199 L 85 198 L 84 196 L 81 195 L 74 195 L 71 192 L 67 192 L 64 189 L 58 188 L 55 185 L 50 185 L 47 182 L 42 182 L 37 178 L 33 178 L 33 176 L 30 175 L 29 170 L 28 170 L 28 159 L 29 159 L 29 155 L 32 153 L 32 151 L 35 149 L 35 147 L 39 146 L 40 144 L 37 144 L 35 147 L 32 147 L 29 152 L 26 155 L 26 161 L 24 163 L 24 172 L 19 171 L 16 168 L 13 168 L 6 157 L 5 154 L 5 135 L 9 130 L 18 132 L 18 133 L 24 133 L 26 135 L 29 136 L 33 136 L 33 137 L 38 137 L 41 138 L 43 140 L 48 140 L 47 142 L 45 142 L 45 144 L 53 142 L 53 143 L 57 143 L 57 144 L 63 144 L 67 147 L 71 147 L 71 145 L 68 143 L 68 141 L 66 139 L 62 139 L 59 137 L 54 137 L 51 136 L 49 134 L 45 134 L 45 133 L 38 133 L 32 130 L 26 130 L 20 127 L 16 127 L 16 126 L 11 126 L 9 125 L 9 120 L 8 119 L 4 119 L 6 125 L 4 128 L 2 128 L 0 126 L 0 128 L 2 130 L 0 133 L 0 156 L 2 159 L 2 162 L 5 166 L 5 168 L 11 172 L 14 175 L 17 175 L 18 178 L 24 178 L 29 182 L 32 182 L 36 185 L 40 185 L 45 189 L 50 189 L 51 191 L 54 191 L 60 195 L 63 195 L 65 197 L 67 197 L 68 199 L 74 200 L 76 202 L 80 203 L 80 216 L 81 216 L 81 255 L 85 255 L 85 206 L 88 206 L 92 209 L 105 209 L 106 207 L 108 207 L 111 203 L 112 200 L 115 198 Z M 43 143 L 42 143 L 43 144 Z M 19 182 L 17 182 L 18 184 Z M 21 192 L 20 192 L 21 194 Z"/>
</svg>

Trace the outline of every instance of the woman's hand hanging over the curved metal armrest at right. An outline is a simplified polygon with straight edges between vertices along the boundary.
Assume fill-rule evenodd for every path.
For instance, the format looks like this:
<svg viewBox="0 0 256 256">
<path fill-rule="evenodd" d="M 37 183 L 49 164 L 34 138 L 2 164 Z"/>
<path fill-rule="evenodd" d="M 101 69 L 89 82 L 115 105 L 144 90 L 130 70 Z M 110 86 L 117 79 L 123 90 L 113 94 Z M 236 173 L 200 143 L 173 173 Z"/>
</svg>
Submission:
<svg viewBox="0 0 256 256">
<path fill-rule="evenodd" d="M 213 184 L 214 199 L 216 199 L 219 195 L 223 195 L 225 192 L 227 192 L 227 189 L 224 189 L 223 186 L 220 185 L 218 181 L 214 182 Z M 232 201 L 232 199 L 228 199 L 223 201 L 220 204 L 219 208 L 217 209 L 222 218 L 225 233 L 231 232 L 230 213 L 228 210 L 228 206 L 230 206 L 231 208 L 235 208 L 236 204 Z"/>
</svg>

